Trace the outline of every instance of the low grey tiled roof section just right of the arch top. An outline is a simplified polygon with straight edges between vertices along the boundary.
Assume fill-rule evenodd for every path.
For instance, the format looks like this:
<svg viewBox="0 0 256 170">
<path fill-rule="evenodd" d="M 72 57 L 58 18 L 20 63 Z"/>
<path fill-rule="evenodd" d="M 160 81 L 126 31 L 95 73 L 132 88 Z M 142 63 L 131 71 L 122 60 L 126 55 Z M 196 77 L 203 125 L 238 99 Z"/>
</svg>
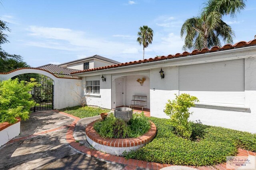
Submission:
<svg viewBox="0 0 256 170">
<path fill-rule="evenodd" d="M 53 74 L 60 74 L 60 75 L 70 75 L 71 72 L 78 71 L 76 69 L 65 69 L 55 64 L 46 64 L 37 68 L 44 69 Z"/>
</svg>

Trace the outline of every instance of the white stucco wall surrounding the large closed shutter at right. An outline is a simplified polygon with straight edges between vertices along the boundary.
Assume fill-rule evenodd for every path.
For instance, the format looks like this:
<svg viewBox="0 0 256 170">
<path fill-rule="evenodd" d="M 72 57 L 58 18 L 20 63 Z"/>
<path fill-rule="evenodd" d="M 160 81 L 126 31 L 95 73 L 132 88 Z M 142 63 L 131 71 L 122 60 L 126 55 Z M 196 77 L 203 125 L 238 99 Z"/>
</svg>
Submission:
<svg viewBox="0 0 256 170">
<path fill-rule="evenodd" d="M 191 121 L 200 121 L 206 125 L 221 126 L 236 130 L 256 133 L 256 58 L 246 58 L 245 68 L 245 106 L 248 111 L 234 111 L 225 107 L 190 108 L 193 112 Z M 168 99 L 179 94 L 178 67 L 164 67 L 165 78 L 161 79 L 159 69 L 150 70 L 150 115 L 152 117 L 169 118 L 164 113 Z M 236 76 L 236 75 L 234 75 Z M 189 82 L 188 82 L 189 83 Z M 155 90 L 153 90 L 155 88 Z"/>
</svg>

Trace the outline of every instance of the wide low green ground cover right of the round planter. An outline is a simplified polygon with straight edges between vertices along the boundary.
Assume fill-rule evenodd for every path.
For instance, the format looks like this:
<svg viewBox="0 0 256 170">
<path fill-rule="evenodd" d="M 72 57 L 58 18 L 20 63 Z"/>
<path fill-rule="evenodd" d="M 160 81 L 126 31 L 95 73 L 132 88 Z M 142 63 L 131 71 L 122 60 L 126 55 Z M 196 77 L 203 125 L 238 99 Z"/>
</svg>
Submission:
<svg viewBox="0 0 256 170">
<path fill-rule="evenodd" d="M 192 138 L 187 140 L 173 133 L 169 119 L 151 117 L 157 127 L 154 140 L 131 153 L 132 158 L 175 165 L 215 165 L 235 156 L 237 149 L 256 151 L 256 134 L 222 127 L 191 123 Z"/>
</svg>

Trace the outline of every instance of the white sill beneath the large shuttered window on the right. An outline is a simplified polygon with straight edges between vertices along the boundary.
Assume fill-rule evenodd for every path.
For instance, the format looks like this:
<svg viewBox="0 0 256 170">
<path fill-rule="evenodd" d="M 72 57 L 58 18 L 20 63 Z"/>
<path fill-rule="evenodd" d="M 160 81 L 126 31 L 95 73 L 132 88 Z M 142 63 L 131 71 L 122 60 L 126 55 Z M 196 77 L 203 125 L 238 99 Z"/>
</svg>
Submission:
<svg viewBox="0 0 256 170">
<path fill-rule="evenodd" d="M 220 110 L 229 110 L 229 111 L 243 111 L 248 112 L 249 107 L 244 105 L 228 105 L 228 104 L 217 104 L 217 103 L 195 103 L 196 108 L 206 108 L 206 109 L 220 109 Z"/>
</svg>

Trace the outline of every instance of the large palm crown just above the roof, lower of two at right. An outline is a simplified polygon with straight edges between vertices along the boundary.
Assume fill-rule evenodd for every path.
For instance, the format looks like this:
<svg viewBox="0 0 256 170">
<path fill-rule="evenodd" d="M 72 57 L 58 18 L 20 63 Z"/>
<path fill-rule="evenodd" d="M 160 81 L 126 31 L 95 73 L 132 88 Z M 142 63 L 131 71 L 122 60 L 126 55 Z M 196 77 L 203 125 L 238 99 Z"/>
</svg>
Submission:
<svg viewBox="0 0 256 170">
<path fill-rule="evenodd" d="M 211 48 L 220 46 L 221 40 L 225 43 L 233 43 L 234 32 L 232 28 L 221 19 L 218 12 L 202 14 L 200 17 L 187 19 L 182 25 L 180 36 L 185 37 L 183 49 Z"/>
</svg>

